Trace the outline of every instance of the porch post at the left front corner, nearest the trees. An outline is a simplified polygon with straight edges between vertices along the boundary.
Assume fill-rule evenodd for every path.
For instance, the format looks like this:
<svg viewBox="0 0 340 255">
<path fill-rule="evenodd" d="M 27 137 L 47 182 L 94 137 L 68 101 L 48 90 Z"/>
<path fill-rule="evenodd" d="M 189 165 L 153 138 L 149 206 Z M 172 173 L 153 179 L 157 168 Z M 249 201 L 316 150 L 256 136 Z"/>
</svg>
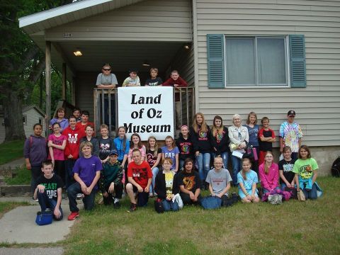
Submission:
<svg viewBox="0 0 340 255">
<path fill-rule="evenodd" d="M 45 47 L 45 86 L 46 86 L 46 135 L 49 135 L 50 117 L 51 117 L 51 42 L 46 41 Z"/>
</svg>

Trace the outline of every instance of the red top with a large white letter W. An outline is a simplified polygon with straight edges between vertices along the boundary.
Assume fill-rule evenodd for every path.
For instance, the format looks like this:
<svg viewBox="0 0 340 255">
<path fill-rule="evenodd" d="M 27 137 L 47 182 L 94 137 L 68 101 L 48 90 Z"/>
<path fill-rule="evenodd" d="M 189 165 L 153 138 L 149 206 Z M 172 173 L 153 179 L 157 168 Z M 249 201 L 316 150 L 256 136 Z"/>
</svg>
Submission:
<svg viewBox="0 0 340 255">
<path fill-rule="evenodd" d="M 70 126 L 68 126 L 64 131 L 62 131 L 62 135 L 67 137 L 66 147 L 64 149 L 65 159 L 68 159 L 68 156 L 71 154 L 73 159 L 79 158 L 79 145 L 82 137 L 85 137 L 85 131 L 83 128 L 77 128 L 77 126 L 72 130 Z"/>
</svg>

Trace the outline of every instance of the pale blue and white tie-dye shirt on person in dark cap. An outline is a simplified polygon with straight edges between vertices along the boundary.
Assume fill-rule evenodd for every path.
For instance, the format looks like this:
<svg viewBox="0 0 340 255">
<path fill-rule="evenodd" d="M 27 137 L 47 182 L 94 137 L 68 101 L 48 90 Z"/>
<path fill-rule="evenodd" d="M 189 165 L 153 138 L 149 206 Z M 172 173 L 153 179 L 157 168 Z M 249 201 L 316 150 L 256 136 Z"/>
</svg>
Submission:
<svg viewBox="0 0 340 255">
<path fill-rule="evenodd" d="M 299 151 L 299 139 L 303 136 L 299 124 L 285 121 L 280 126 L 279 135 L 283 138 L 284 146 L 289 146 L 292 152 Z"/>
</svg>

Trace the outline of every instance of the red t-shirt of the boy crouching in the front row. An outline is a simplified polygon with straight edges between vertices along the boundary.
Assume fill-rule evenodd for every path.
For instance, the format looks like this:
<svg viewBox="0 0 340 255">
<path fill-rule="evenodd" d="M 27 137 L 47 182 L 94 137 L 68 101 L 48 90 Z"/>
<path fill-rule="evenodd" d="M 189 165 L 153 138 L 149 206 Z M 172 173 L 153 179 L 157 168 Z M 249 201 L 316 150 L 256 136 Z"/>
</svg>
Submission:
<svg viewBox="0 0 340 255">
<path fill-rule="evenodd" d="M 132 177 L 142 188 L 146 188 L 148 179 L 152 178 L 152 171 L 147 162 L 143 161 L 142 164 L 137 165 L 132 161 L 128 165 L 128 177 Z"/>
</svg>

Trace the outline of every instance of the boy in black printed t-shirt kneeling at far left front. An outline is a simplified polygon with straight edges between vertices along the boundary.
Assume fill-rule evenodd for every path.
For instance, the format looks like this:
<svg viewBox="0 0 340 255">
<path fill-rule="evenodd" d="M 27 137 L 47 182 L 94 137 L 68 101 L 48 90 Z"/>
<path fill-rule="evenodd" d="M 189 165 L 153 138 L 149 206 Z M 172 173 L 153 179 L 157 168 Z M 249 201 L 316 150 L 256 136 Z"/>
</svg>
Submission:
<svg viewBox="0 0 340 255">
<path fill-rule="evenodd" d="M 33 198 L 37 199 L 42 212 L 49 209 L 53 212 L 55 220 L 62 220 L 62 179 L 57 174 L 53 174 L 53 164 L 50 159 L 42 162 L 43 175 L 36 181 L 36 188 Z"/>
</svg>

